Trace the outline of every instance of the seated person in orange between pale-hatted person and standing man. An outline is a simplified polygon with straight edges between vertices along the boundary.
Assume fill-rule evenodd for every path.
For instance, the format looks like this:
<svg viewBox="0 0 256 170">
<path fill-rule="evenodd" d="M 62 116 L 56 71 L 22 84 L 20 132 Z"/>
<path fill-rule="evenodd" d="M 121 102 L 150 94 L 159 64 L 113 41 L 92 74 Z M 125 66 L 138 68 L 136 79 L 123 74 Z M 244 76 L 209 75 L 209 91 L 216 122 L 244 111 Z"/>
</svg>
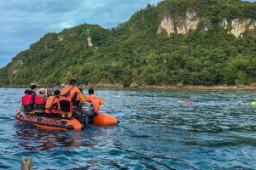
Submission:
<svg viewBox="0 0 256 170">
<path fill-rule="evenodd" d="M 61 116 L 60 90 L 55 90 L 54 95 L 50 95 L 46 100 L 45 113 L 47 116 Z"/>
</svg>

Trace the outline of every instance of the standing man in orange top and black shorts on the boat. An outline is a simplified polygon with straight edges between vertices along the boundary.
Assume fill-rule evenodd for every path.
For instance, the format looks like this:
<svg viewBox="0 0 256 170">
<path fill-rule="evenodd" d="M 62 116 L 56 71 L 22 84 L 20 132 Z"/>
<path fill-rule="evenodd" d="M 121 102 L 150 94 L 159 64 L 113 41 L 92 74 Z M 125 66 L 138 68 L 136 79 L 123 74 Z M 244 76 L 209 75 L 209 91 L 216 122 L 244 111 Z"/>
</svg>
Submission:
<svg viewBox="0 0 256 170">
<path fill-rule="evenodd" d="M 60 105 L 61 105 L 61 112 L 62 117 L 71 117 L 72 116 L 72 104 L 75 99 L 77 99 L 77 95 L 82 102 L 85 102 L 84 95 L 80 92 L 79 88 L 77 87 L 77 81 L 72 79 L 70 81 L 70 85 L 66 86 L 61 90 L 61 98 L 60 98 Z"/>
</svg>

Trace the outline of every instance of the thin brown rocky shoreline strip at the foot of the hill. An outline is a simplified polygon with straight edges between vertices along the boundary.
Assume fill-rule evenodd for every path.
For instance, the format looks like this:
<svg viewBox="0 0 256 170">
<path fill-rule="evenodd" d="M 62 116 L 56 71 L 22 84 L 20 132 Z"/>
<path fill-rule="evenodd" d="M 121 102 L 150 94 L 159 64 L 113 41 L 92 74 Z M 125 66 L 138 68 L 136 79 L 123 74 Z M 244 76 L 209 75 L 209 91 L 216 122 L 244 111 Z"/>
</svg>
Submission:
<svg viewBox="0 0 256 170">
<path fill-rule="evenodd" d="M 44 87 L 43 85 L 38 85 L 38 88 Z M 64 86 L 46 86 L 44 88 L 63 88 Z M 29 86 L 9 86 L 0 88 L 29 88 Z M 256 92 L 256 86 L 203 86 L 203 85 L 182 85 L 182 86 L 146 86 L 146 85 L 136 85 L 125 88 L 120 84 L 90 84 L 90 85 L 79 85 L 79 88 L 114 88 L 114 89 L 160 89 L 160 90 L 189 90 L 189 91 L 251 91 Z"/>
</svg>

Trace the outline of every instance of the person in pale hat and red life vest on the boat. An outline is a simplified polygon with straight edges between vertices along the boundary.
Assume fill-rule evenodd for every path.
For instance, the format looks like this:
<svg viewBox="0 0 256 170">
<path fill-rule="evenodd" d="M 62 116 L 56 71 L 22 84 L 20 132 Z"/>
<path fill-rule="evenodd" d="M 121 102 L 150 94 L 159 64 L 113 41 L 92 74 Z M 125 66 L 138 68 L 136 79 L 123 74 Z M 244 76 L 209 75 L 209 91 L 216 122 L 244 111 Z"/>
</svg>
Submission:
<svg viewBox="0 0 256 170">
<path fill-rule="evenodd" d="M 39 94 L 35 95 L 35 113 L 38 115 L 44 114 L 45 102 L 46 102 L 46 89 L 40 88 Z"/>
</svg>

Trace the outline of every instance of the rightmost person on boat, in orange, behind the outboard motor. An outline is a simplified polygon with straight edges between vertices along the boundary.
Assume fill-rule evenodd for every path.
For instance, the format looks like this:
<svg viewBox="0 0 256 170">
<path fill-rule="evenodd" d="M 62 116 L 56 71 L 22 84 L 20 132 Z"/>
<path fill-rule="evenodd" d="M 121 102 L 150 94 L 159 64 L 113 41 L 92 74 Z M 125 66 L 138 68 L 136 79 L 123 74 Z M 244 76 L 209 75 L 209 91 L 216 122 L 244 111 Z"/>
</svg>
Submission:
<svg viewBox="0 0 256 170">
<path fill-rule="evenodd" d="M 93 111 L 95 113 L 95 115 L 97 115 L 100 111 L 100 105 L 103 105 L 103 98 L 98 98 L 95 94 L 94 94 L 94 89 L 90 88 L 88 90 L 88 94 L 89 96 L 86 98 L 86 101 L 92 103 L 93 105 Z"/>
</svg>

